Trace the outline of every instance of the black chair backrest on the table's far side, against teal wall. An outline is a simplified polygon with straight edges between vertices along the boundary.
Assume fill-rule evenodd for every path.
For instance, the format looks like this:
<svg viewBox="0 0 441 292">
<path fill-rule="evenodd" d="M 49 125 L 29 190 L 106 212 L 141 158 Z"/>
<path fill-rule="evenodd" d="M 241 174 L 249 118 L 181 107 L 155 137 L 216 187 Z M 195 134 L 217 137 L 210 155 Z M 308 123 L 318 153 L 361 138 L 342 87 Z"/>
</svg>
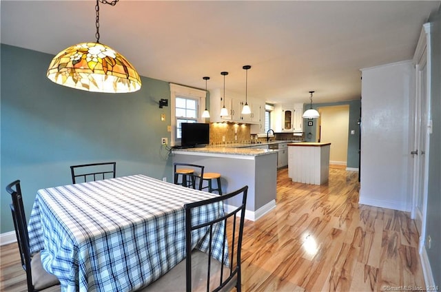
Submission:
<svg viewBox="0 0 441 292">
<path fill-rule="evenodd" d="M 116 162 L 112 163 L 90 163 L 85 165 L 72 165 L 70 167 L 72 183 L 85 183 L 105 178 L 115 178 Z"/>
</svg>

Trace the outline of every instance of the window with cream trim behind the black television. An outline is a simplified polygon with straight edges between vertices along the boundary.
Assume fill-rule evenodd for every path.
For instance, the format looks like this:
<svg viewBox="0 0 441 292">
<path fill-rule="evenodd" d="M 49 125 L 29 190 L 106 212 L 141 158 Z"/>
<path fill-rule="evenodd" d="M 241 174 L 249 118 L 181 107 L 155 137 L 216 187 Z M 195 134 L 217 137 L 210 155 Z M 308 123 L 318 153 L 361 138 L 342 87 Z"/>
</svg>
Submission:
<svg viewBox="0 0 441 292">
<path fill-rule="evenodd" d="M 202 118 L 205 109 L 205 90 L 170 83 L 170 120 L 172 139 L 170 145 L 181 143 L 182 123 L 205 123 Z"/>
</svg>

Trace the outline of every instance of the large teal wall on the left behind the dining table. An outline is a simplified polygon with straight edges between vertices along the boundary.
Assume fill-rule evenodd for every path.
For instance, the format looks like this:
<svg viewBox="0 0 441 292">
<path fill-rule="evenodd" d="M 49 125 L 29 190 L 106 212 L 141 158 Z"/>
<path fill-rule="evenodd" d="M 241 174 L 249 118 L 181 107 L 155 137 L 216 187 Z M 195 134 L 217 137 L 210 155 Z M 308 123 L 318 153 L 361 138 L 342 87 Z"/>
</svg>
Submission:
<svg viewBox="0 0 441 292">
<path fill-rule="evenodd" d="M 27 216 L 37 190 L 71 183 L 70 165 L 116 161 L 116 175 L 172 181 L 169 83 L 141 77 L 130 94 L 98 94 L 46 78 L 50 54 L 1 45 L 1 229 L 14 230 L 6 185 L 21 180 Z M 169 103 L 170 104 L 170 103 Z M 166 121 L 161 121 L 161 113 Z"/>
</svg>

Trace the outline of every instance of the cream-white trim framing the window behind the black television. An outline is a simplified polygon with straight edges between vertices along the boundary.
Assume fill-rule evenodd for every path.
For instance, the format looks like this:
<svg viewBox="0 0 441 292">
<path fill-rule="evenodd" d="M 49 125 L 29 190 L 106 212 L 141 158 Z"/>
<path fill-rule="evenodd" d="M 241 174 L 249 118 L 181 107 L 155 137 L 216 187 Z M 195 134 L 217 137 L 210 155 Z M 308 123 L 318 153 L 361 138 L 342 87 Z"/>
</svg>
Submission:
<svg viewBox="0 0 441 292">
<path fill-rule="evenodd" d="M 184 98 L 198 98 L 198 123 L 205 123 L 202 112 L 205 110 L 205 90 L 170 83 L 170 119 L 172 123 L 172 133 L 170 145 L 176 145 L 176 96 Z"/>
</svg>

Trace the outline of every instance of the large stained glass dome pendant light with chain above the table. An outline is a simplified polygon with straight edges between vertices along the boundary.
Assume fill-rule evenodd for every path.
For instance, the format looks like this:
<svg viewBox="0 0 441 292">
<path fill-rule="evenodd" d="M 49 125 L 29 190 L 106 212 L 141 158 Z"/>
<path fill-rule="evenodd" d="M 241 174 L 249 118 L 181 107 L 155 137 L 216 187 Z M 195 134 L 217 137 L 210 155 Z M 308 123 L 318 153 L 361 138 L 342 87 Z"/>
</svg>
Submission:
<svg viewBox="0 0 441 292">
<path fill-rule="evenodd" d="M 99 2 L 115 6 L 116 2 L 96 0 L 96 42 L 79 43 L 59 52 L 48 68 L 48 79 L 77 90 L 105 93 L 136 92 L 141 79 L 125 57 L 99 43 Z"/>
</svg>

